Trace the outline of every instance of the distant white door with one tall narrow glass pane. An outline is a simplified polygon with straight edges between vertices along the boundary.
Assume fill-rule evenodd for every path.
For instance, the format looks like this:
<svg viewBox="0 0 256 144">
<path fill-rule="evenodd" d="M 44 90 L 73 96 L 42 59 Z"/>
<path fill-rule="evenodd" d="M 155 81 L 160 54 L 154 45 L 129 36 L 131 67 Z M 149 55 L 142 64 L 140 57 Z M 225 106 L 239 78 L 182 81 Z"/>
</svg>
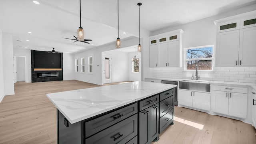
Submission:
<svg viewBox="0 0 256 144">
<path fill-rule="evenodd" d="M 103 82 L 112 83 L 111 55 L 103 55 Z"/>
</svg>

